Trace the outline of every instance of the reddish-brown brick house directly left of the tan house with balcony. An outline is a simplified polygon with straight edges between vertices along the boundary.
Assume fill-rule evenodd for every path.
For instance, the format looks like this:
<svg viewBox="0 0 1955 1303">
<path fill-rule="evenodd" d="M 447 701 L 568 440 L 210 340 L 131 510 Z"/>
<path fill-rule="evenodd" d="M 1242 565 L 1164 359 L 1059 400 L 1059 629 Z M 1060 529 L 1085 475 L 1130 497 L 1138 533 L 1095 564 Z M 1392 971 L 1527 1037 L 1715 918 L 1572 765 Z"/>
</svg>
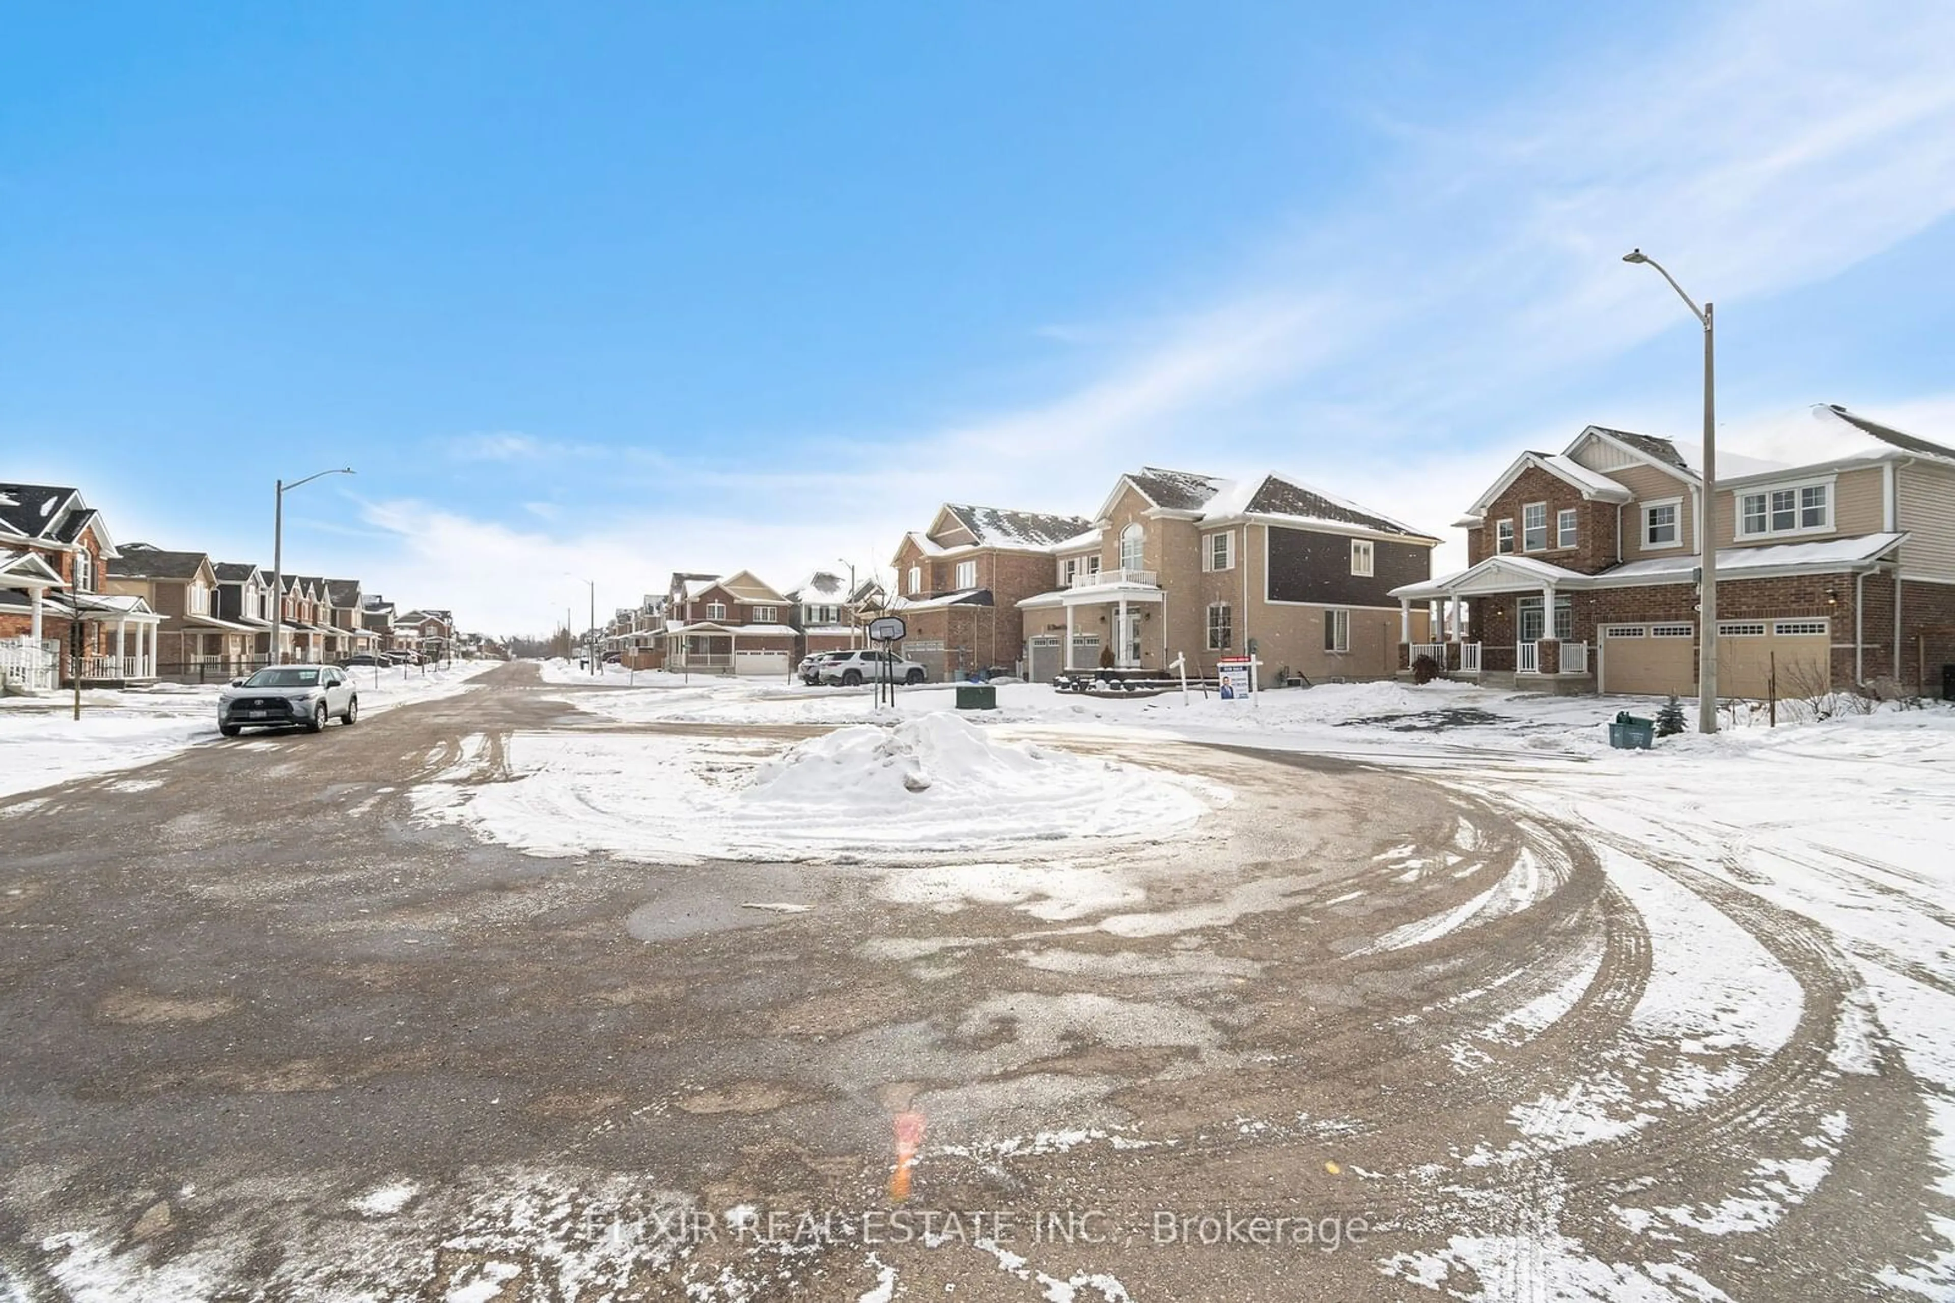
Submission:
<svg viewBox="0 0 1955 1303">
<path fill-rule="evenodd" d="M 886 606 L 909 627 L 903 654 L 927 666 L 933 680 L 1019 668 L 1019 602 L 1052 586 L 1054 547 L 1091 524 L 1079 516 L 942 504 L 931 527 L 903 535 L 895 551 L 895 594 Z"/>
</svg>

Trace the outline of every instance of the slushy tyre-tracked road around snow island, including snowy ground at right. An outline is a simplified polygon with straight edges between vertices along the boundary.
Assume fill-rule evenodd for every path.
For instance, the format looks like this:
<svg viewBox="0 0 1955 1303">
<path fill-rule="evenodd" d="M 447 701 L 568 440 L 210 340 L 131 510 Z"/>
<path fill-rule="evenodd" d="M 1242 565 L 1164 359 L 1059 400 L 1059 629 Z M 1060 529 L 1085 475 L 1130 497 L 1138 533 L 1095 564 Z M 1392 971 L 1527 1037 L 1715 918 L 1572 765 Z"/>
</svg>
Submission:
<svg viewBox="0 0 1955 1303">
<path fill-rule="evenodd" d="M 0 805 L 0 1297 L 1955 1289 L 1947 731 L 1007 711 L 1232 795 L 1064 856 L 538 858 L 416 811 L 520 789 L 526 736 L 856 709 L 649 701 L 514 666 Z"/>
</svg>

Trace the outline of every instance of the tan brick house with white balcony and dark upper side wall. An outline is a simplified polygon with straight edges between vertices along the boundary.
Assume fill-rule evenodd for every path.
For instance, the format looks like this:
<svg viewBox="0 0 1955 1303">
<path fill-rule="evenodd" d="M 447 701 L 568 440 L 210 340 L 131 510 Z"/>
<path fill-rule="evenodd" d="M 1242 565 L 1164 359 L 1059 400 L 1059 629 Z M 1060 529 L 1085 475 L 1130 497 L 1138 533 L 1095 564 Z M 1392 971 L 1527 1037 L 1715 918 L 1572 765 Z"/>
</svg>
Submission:
<svg viewBox="0 0 1955 1303">
<path fill-rule="evenodd" d="M 1398 668 L 1398 584 L 1431 576 L 1439 539 L 1265 473 L 1226 481 L 1142 467 L 1091 527 L 1052 549 L 1056 588 L 1022 598 L 1030 676 L 1093 668 L 1214 674 L 1253 652 L 1263 674 L 1384 678 Z"/>
</svg>

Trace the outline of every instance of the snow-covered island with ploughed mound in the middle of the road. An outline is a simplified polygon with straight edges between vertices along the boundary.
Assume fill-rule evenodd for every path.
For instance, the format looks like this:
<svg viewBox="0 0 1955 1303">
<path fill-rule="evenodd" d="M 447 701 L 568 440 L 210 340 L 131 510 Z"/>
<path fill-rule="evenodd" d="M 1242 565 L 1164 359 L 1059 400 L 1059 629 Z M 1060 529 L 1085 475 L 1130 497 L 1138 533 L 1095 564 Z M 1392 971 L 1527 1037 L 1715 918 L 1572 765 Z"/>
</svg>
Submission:
<svg viewBox="0 0 1955 1303">
<path fill-rule="evenodd" d="M 934 858 L 1069 838 L 1153 838 L 1230 793 L 1007 742 L 956 715 L 852 725 L 762 752 L 751 738 L 518 733 L 514 781 L 469 766 L 414 791 L 422 817 L 538 856 L 653 863 Z"/>
</svg>

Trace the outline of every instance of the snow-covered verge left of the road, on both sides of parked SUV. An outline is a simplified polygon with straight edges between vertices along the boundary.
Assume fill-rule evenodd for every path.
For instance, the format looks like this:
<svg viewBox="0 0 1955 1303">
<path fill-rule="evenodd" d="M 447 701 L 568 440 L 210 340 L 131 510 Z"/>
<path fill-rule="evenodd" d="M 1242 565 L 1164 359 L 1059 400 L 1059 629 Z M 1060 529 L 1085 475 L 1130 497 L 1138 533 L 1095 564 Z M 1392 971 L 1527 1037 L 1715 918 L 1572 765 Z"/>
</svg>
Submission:
<svg viewBox="0 0 1955 1303">
<path fill-rule="evenodd" d="M 356 670 L 360 713 L 375 715 L 407 701 L 461 692 L 497 660 L 454 668 Z M 70 694 L 0 697 L 0 797 L 53 787 L 76 778 L 133 770 L 166 760 L 186 746 L 217 742 L 215 684 L 84 690 L 82 717 Z"/>
</svg>

